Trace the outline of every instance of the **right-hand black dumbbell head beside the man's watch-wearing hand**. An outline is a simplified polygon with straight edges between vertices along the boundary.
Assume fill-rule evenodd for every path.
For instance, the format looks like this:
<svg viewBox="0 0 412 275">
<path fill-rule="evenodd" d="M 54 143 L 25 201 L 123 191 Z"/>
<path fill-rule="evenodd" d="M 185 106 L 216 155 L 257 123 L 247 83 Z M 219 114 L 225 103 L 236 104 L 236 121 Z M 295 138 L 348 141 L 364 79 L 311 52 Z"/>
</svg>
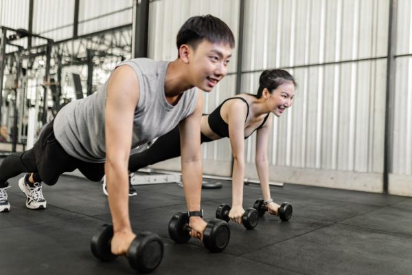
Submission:
<svg viewBox="0 0 412 275">
<path fill-rule="evenodd" d="M 212 219 L 203 232 L 203 244 L 211 252 L 221 252 L 230 240 L 229 226 L 225 221 Z"/>
</svg>

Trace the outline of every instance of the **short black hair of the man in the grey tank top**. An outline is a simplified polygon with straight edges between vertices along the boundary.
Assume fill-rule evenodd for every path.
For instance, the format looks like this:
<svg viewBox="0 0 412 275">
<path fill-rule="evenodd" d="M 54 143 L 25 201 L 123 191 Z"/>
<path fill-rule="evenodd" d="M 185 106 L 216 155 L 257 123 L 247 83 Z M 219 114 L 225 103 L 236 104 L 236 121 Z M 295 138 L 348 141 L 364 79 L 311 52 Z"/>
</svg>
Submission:
<svg viewBox="0 0 412 275">
<path fill-rule="evenodd" d="M 183 44 L 196 49 L 203 39 L 211 43 L 228 44 L 232 49 L 235 47 L 235 38 L 226 23 L 208 14 L 187 19 L 176 37 L 177 50 Z"/>
</svg>

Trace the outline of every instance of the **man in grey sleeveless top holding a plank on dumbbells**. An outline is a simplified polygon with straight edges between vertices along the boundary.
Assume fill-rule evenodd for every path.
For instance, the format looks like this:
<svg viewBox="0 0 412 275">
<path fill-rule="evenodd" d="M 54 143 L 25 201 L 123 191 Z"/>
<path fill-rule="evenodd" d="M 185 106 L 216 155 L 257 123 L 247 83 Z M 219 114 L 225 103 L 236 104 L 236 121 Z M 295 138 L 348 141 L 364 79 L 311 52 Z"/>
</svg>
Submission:
<svg viewBox="0 0 412 275">
<path fill-rule="evenodd" d="M 100 181 L 106 173 L 114 229 L 111 248 L 113 254 L 125 254 L 135 238 L 128 215 L 130 148 L 179 123 L 183 183 L 192 212 L 190 234 L 201 238 L 206 226 L 198 214 L 202 93 L 227 74 L 234 39 L 224 22 L 207 15 L 188 19 L 176 45 L 178 58 L 171 63 L 147 58 L 121 63 L 100 91 L 63 107 L 32 149 L 6 157 L 0 166 L 0 211 L 10 210 L 5 188 L 7 180 L 19 173 L 31 173 L 19 180 L 19 187 L 26 194 L 26 206 L 39 208 L 45 208 L 41 181 L 56 184 L 62 173 L 76 168 L 92 181 Z"/>
</svg>

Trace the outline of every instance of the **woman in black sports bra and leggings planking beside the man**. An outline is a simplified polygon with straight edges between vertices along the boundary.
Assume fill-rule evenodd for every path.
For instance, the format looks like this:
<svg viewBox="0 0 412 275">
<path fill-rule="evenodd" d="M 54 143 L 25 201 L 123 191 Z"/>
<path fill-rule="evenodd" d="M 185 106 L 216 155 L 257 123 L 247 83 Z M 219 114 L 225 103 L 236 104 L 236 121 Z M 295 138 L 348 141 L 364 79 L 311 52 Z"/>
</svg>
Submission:
<svg viewBox="0 0 412 275">
<path fill-rule="evenodd" d="M 292 106 L 295 96 L 295 79 L 282 69 L 271 69 L 262 72 L 259 79 L 258 93 L 239 94 L 223 101 L 209 115 L 201 118 L 201 142 L 211 142 L 222 137 L 229 137 L 233 153 L 233 188 L 232 207 L 229 218 L 236 223 L 242 223 L 244 209 L 244 140 L 254 131 L 256 138 L 256 169 L 264 204 L 268 212 L 278 215 L 279 205 L 271 199 L 268 184 L 267 148 L 273 113 L 280 117 Z M 148 150 L 130 155 L 128 169 L 137 171 L 157 162 L 180 155 L 179 127 L 159 137 Z"/>
</svg>

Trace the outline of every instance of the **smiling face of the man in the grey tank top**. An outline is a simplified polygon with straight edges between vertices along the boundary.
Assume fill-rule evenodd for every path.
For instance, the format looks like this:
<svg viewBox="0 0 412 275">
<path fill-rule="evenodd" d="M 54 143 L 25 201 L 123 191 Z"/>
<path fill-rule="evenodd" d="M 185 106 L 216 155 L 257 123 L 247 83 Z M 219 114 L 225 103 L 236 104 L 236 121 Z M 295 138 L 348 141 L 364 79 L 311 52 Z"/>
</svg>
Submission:
<svg viewBox="0 0 412 275">
<path fill-rule="evenodd" d="M 227 74 L 231 58 L 231 47 L 225 43 L 211 43 L 203 40 L 196 50 L 191 48 L 188 56 L 192 85 L 203 91 L 211 91 Z"/>
</svg>

